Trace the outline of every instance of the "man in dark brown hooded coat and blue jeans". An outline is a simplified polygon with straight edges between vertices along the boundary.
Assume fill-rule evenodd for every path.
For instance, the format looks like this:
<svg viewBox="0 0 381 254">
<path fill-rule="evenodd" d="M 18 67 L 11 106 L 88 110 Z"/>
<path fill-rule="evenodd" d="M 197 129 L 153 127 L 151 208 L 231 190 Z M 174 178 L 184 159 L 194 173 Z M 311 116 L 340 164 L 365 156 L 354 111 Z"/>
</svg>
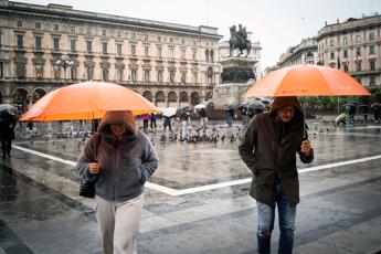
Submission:
<svg viewBox="0 0 381 254">
<path fill-rule="evenodd" d="M 257 204 L 257 253 L 271 253 L 276 207 L 281 230 L 278 253 L 292 253 L 299 202 L 295 155 L 305 163 L 314 159 L 298 99 L 275 98 L 269 113 L 256 115 L 250 123 L 239 150 L 253 172 L 250 194 Z"/>
</svg>

